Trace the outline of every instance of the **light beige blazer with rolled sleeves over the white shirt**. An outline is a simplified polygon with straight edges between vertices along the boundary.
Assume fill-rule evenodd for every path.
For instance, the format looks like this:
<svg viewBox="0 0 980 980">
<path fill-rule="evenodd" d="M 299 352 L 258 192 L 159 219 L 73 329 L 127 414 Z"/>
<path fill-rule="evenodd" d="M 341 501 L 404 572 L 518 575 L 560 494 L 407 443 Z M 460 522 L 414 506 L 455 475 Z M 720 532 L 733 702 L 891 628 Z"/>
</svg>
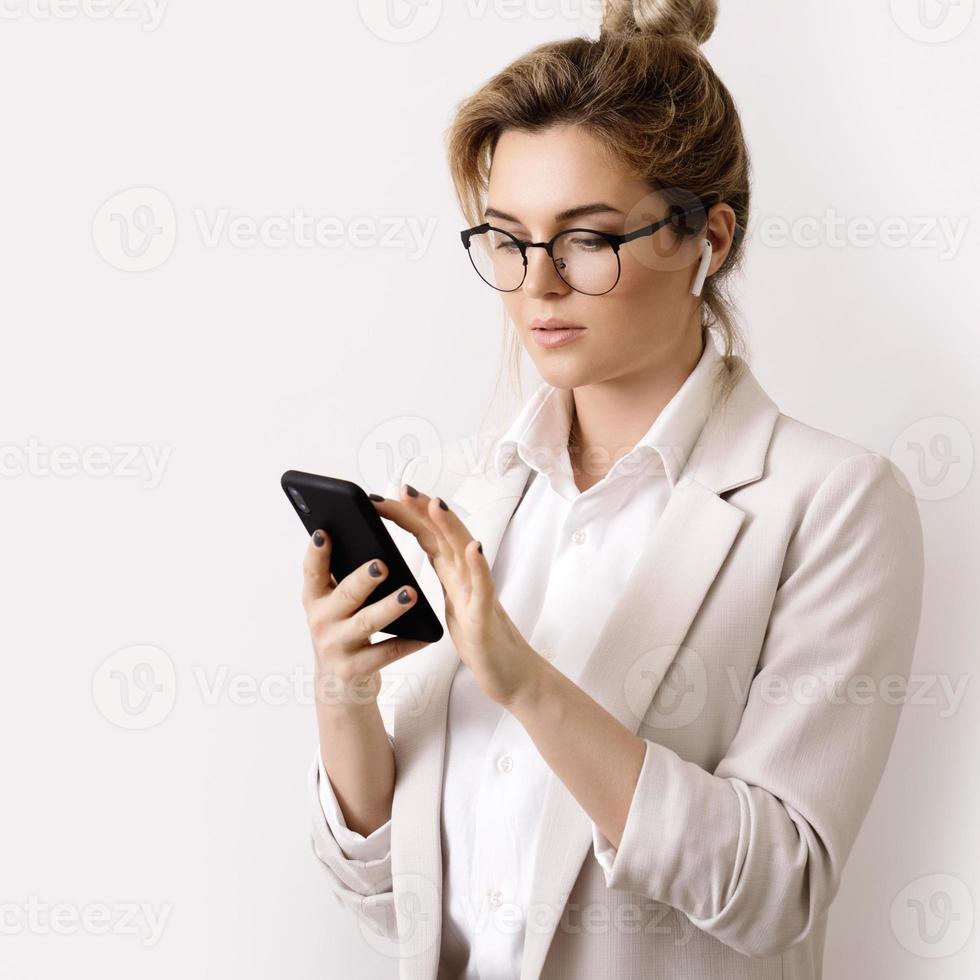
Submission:
<svg viewBox="0 0 980 980">
<path fill-rule="evenodd" d="M 442 496 L 492 562 L 530 470 L 515 457 L 503 476 L 480 472 L 474 453 L 460 440 L 416 457 L 388 493 L 407 481 Z M 388 527 L 445 623 L 432 566 Z M 902 472 L 782 414 L 744 367 L 618 604 L 596 610 L 605 626 L 579 684 L 647 753 L 608 882 L 588 815 L 552 775 L 520 980 L 821 976 L 827 910 L 899 719 L 922 577 Z M 404 980 L 443 976 L 440 800 L 457 663 L 447 632 L 383 671 L 391 882 L 352 885 L 310 769 L 329 887 Z"/>
</svg>

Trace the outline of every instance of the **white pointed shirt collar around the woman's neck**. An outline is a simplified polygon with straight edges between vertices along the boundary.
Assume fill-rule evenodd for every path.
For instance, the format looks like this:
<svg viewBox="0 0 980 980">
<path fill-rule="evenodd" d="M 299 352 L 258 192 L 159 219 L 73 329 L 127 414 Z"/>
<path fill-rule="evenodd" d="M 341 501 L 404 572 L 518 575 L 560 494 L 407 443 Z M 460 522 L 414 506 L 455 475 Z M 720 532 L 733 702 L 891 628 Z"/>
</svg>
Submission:
<svg viewBox="0 0 980 980">
<path fill-rule="evenodd" d="M 677 484 L 711 411 L 720 362 L 709 334 L 694 370 L 636 446 L 616 461 L 613 471 L 642 469 L 652 457 L 663 466 L 671 488 Z M 572 404 L 571 389 L 542 382 L 497 443 L 493 456 L 497 473 L 502 474 L 515 456 L 542 474 L 558 465 L 568 451 Z"/>
</svg>

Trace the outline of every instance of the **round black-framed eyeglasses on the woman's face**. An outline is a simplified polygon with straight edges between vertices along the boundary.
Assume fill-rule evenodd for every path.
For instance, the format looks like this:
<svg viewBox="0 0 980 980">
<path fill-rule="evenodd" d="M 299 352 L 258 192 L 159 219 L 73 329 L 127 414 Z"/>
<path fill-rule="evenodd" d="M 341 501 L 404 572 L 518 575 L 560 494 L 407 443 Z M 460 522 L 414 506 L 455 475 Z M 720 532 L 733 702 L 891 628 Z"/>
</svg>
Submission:
<svg viewBox="0 0 980 980">
<path fill-rule="evenodd" d="M 684 219 L 696 213 L 704 213 L 703 205 L 689 208 L 674 205 L 662 221 L 626 235 L 591 228 L 568 228 L 550 242 L 524 242 L 503 228 L 482 224 L 460 232 L 460 237 L 477 275 L 500 292 L 512 293 L 524 285 L 527 250 L 543 248 L 567 286 L 587 296 L 603 296 L 615 289 L 619 282 L 622 273 L 619 250 L 623 245 L 655 235 L 669 224 L 684 229 Z"/>
</svg>

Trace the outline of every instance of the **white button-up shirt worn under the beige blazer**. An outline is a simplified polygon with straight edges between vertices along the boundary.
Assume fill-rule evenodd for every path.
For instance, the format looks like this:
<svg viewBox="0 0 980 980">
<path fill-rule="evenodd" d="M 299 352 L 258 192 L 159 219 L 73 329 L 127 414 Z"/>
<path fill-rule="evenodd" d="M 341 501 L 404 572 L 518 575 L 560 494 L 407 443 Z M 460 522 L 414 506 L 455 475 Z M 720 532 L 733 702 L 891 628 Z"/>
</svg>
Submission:
<svg viewBox="0 0 980 980">
<path fill-rule="evenodd" d="M 596 592 L 598 605 L 611 610 L 704 426 L 720 360 L 709 336 L 646 434 L 584 492 L 568 454 L 569 389 L 542 383 L 497 444 L 498 470 L 514 453 L 531 467 L 493 562 L 497 594 L 531 647 L 573 680 L 604 625 Z M 520 722 L 482 693 L 462 661 L 450 688 L 445 762 L 439 977 L 508 980 L 520 975 L 550 770 Z M 390 877 L 391 821 L 363 837 L 344 822 L 322 762 L 319 787 L 327 824 L 344 853 L 364 862 L 357 872 L 365 884 Z M 616 850 L 594 823 L 592 831 L 608 873 Z"/>
</svg>

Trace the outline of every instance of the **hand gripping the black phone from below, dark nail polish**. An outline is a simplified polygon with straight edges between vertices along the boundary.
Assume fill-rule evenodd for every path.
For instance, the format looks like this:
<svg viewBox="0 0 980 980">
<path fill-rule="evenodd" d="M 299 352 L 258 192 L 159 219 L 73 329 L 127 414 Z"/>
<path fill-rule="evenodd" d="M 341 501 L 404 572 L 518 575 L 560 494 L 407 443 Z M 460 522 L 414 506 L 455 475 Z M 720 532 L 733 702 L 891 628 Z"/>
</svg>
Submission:
<svg viewBox="0 0 980 980">
<path fill-rule="evenodd" d="M 317 701 L 345 706 L 375 703 L 381 668 L 428 646 L 426 640 L 397 636 L 370 641 L 373 633 L 408 612 L 417 595 L 405 586 L 361 608 L 384 581 L 387 566 L 380 558 L 368 561 L 337 582 L 330 572 L 330 552 L 327 532 L 314 531 L 303 560 L 302 600 L 316 655 Z M 372 566 L 381 574 L 372 575 Z M 399 601 L 399 596 L 408 601 Z"/>
</svg>

